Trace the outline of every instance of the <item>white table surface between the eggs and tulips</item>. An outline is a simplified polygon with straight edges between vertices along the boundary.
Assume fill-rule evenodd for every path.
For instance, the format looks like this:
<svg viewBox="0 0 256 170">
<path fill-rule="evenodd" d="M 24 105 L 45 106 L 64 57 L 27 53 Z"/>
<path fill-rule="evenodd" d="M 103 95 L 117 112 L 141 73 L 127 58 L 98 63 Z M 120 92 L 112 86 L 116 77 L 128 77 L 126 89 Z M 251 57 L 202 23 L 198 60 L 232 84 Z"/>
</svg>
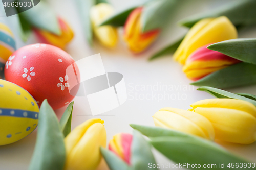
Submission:
<svg viewBox="0 0 256 170">
<path fill-rule="evenodd" d="M 226 0 L 227 1 L 227 0 Z M 186 1 L 182 5 L 182 9 L 178 8 L 172 21 L 168 23 L 166 28 L 162 31 L 158 40 L 145 52 L 134 55 L 125 47 L 122 37 L 119 37 L 119 43 L 114 50 L 106 49 L 100 46 L 97 42 L 93 48 L 90 48 L 83 36 L 81 28 L 81 21 L 79 14 L 76 11 L 75 1 L 72 0 L 55 0 L 48 1 L 56 13 L 65 18 L 73 28 L 75 37 L 67 47 L 67 52 L 77 61 L 84 57 L 100 53 L 105 70 L 107 72 L 120 72 L 124 76 L 124 81 L 127 88 L 128 99 L 120 107 L 109 112 L 92 116 L 89 104 L 86 98 L 74 98 L 74 110 L 72 117 L 72 129 L 77 125 L 83 123 L 90 118 L 101 118 L 104 120 L 108 141 L 113 135 L 120 132 L 132 133 L 132 128 L 129 124 L 141 124 L 147 126 L 154 126 L 152 116 L 156 111 L 162 107 L 175 107 L 180 109 L 188 109 L 189 105 L 202 100 L 214 98 L 206 92 L 197 91 L 197 87 L 189 85 L 191 82 L 183 74 L 182 66 L 175 62 L 172 57 L 164 57 L 153 62 L 148 62 L 147 58 L 153 53 L 160 50 L 170 42 L 175 41 L 181 37 L 187 29 L 177 26 L 176 22 L 197 13 L 199 11 L 206 11 L 212 7 L 218 6 L 226 1 Z M 230 0 L 229 0 L 230 1 Z M 115 9 L 120 10 L 126 6 L 136 3 L 136 0 L 111 0 Z M 3 10 L 1 5 L 0 11 Z M 15 29 L 16 16 L 5 17 L 0 15 L 0 21 L 7 23 L 15 34 L 17 47 L 22 47 L 26 44 L 36 43 L 36 39 L 32 36 L 28 42 L 24 43 L 20 40 Z M 120 29 L 120 35 L 122 30 Z M 256 37 L 255 28 L 242 30 L 239 34 L 240 38 Z M 172 99 L 162 99 L 164 91 L 160 89 L 163 85 L 173 87 L 165 91 Z M 142 89 L 144 86 L 155 87 Z M 135 88 L 136 87 L 136 88 Z M 133 89 L 134 88 L 134 89 Z M 256 94 L 256 85 L 229 89 L 230 92 L 245 92 Z M 142 99 L 146 94 L 153 94 L 153 98 L 146 100 Z M 140 98 L 136 99 L 136 95 Z M 155 96 L 155 97 L 154 97 Z M 174 99 L 176 98 L 176 99 Z M 57 116 L 60 118 L 65 108 L 56 110 Z M 15 143 L 4 145 L 0 147 L 0 169 L 27 169 L 33 153 L 36 140 L 36 130 L 29 136 Z M 243 156 L 252 162 L 256 162 L 256 143 L 249 145 L 233 144 L 226 142 L 219 142 L 228 150 Z M 153 150 L 156 160 L 159 164 L 172 163 L 156 150 Z M 98 169 L 108 169 L 102 161 Z"/>
</svg>

